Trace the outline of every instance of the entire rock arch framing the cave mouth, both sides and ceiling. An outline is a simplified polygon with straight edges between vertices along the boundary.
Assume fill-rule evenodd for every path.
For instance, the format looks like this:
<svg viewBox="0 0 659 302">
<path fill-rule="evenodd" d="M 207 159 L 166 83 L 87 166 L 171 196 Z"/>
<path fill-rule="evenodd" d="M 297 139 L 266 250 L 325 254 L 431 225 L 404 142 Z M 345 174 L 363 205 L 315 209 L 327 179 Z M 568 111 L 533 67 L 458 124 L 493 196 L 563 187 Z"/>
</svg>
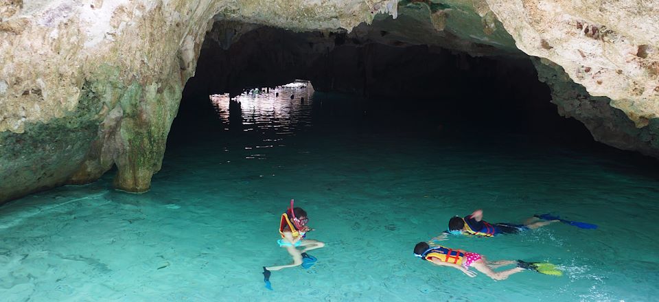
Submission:
<svg viewBox="0 0 659 302">
<path fill-rule="evenodd" d="M 0 202 L 94 181 L 113 165 L 119 189 L 146 191 L 216 21 L 226 47 L 268 25 L 544 58 L 536 67 L 563 115 L 599 141 L 656 156 L 658 10 L 606 0 L 0 0 Z M 590 98 L 605 101 L 585 110 Z"/>
</svg>

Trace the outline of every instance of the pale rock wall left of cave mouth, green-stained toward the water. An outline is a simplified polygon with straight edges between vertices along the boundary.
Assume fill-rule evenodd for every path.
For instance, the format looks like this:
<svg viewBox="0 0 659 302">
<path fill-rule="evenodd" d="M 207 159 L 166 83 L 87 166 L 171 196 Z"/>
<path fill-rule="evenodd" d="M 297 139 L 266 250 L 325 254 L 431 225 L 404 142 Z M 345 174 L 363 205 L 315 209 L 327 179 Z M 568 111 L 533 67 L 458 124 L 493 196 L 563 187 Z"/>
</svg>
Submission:
<svg viewBox="0 0 659 302">
<path fill-rule="evenodd" d="M 396 8 L 371 2 L 3 0 L 0 202 L 113 165 L 146 191 L 214 16 L 336 29 Z"/>
</svg>

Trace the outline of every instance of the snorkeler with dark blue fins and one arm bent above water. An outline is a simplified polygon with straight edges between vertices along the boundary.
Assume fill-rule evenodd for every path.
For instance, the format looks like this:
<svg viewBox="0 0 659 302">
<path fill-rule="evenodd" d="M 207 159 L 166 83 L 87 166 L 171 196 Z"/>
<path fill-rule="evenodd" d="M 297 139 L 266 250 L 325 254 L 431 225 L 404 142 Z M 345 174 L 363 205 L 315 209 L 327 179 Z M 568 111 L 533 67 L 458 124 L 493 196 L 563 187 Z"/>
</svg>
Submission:
<svg viewBox="0 0 659 302">
<path fill-rule="evenodd" d="M 559 220 L 544 220 L 531 217 L 524 224 L 495 223 L 490 224 L 483 220 L 483 210 L 477 209 L 464 218 L 455 216 L 448 221 L 448 232 L 454 235 L 476 235 L 479 237 L 492 237 L 498 234 L 516 234 L 528 229 L 537 229 Z"/>
</svg>

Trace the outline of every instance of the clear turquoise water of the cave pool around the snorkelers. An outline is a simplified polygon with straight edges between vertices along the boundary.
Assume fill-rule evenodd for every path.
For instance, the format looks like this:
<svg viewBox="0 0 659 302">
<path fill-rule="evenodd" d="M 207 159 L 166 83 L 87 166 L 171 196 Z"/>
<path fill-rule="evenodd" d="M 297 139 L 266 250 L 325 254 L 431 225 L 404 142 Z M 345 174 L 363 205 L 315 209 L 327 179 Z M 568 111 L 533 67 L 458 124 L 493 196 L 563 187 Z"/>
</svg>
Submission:
<svg viewBox="0 0 659 302">
<path fill-rule="evenodd" d="M 176 121 L 146 194 L 112 190 L 108 175 L 0 207 L 1 300 L 654 301 L 659 294 L 654 162 L 440 128 L 393 105 L 373 113 L 364 102 L 320 94 L 301 104 L 300 95 L 242 97 L 231 117 L 229 101 L 216 97 L 213 119 Z M 273 272 L 268 291 L 261 266 L 290 262 L 275 244 L 290 198 L 309 213 L 316 229 L 309 237 L 327 246 L 313 251 L 319 262 L 310 270 Z M 490 222 L 553 211 L 599 229 L 553 224 L 443 242 L 493 260 L 547 260 L 563 277 L 469 278 L 412 256 L 448 218 L 476 208 Z"/>
</svg>

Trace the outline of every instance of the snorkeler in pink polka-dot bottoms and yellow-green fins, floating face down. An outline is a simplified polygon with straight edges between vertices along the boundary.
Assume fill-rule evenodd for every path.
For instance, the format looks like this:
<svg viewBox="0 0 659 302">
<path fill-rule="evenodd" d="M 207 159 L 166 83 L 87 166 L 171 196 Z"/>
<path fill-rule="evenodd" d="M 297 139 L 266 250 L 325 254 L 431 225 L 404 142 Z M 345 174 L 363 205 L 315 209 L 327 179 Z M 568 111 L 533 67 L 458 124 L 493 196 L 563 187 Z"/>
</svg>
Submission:
<svg viewBox="0 0 659 302">
<path fill-rule="evenodd" d="M 414 255 L 426 261 L 432 262 L 439 266 L 450 266 L 456 268 L 469 277 L 476 277 L 476 272 L 469 270 L 470 267 L 476 268 L 479 272 L 487 275 L 494 280 L 505 280 L 510 275 L 521 272 L 522 270 L 535 270 L 546 275 L 560 276 L 563 273 L 557 270 L 553 264 L 546 262 L 523 262 L 513 260 L 501 260 L 489 262 L 485 257 L 470 253 L 463 250 L 454 250 L 444 246 L 430 246 L 428 242 L 419 242 L 414 247 Z M 495 272 L 493 268 L 516 264 L 516 268 Z"/>
</svg>

